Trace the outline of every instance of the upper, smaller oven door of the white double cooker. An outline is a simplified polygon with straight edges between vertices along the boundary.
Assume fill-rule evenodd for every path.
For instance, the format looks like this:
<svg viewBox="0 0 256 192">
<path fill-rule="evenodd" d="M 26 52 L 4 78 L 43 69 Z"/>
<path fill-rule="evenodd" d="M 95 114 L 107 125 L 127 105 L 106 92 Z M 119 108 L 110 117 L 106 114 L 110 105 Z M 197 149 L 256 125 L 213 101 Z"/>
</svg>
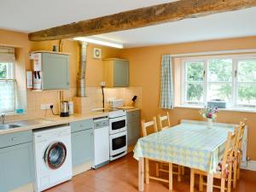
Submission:
<svg viewBox="0 0 256 192">
<path fill-rule="evenodd" d="M 109 119 L 109 134 L 127 131 L 126 116 Z"/>
</svg>

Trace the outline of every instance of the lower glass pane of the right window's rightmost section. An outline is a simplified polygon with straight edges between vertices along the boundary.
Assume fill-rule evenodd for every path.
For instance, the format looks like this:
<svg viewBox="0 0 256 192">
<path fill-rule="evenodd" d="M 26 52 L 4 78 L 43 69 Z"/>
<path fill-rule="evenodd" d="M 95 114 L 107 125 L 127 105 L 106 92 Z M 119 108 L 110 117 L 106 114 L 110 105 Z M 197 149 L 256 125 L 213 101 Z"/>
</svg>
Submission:
<svg viewBox="0 0 256 192">
<path fill-rule="evenodd" d="M 238 84 L 238 104 L 256 105 L 256 84 Z"/>
</svg>

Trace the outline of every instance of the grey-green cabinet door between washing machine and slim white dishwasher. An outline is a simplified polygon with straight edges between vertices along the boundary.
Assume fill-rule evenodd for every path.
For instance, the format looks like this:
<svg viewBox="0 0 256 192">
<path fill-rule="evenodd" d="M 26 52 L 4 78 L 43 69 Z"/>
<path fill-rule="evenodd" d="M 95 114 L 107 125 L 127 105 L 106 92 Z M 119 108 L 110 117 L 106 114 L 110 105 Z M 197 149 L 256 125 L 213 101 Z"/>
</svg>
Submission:
<svg viewBox="0 0 256 192">
<path fill-rule="evenodd" d="M 93 160 L 93 129 L 73 132 L 71 144 L 73 167 Z"/>
</svg>

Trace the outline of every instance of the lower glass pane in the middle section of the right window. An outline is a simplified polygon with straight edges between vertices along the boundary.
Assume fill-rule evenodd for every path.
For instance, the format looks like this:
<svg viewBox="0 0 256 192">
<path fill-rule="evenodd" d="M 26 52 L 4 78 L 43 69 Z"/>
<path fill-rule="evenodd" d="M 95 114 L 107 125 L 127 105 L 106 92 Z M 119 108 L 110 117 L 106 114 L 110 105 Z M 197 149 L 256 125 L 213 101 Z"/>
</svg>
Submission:
<svg viewBox="0 0 256 192">
<path fill-rule="evenodd" d="M 224 100 L 231 102 L 232 98 L 232 84 L 209 84 L 208 86 L 208 101 L 209 100 Z"/>
</svg>

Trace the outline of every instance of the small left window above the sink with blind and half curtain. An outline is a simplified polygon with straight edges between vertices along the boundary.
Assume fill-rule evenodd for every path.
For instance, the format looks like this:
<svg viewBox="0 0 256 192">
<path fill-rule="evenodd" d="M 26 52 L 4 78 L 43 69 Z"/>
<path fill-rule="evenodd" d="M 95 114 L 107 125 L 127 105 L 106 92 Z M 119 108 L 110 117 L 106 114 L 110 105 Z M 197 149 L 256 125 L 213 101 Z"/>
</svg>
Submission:
<svg viewBox="0 0 256 192">
<path fill-rule="evenodd" d="M 15 112 L 16 82 L 13 58 L 14 49 L 0 47 L 0 113 Z"/>
</svg>

